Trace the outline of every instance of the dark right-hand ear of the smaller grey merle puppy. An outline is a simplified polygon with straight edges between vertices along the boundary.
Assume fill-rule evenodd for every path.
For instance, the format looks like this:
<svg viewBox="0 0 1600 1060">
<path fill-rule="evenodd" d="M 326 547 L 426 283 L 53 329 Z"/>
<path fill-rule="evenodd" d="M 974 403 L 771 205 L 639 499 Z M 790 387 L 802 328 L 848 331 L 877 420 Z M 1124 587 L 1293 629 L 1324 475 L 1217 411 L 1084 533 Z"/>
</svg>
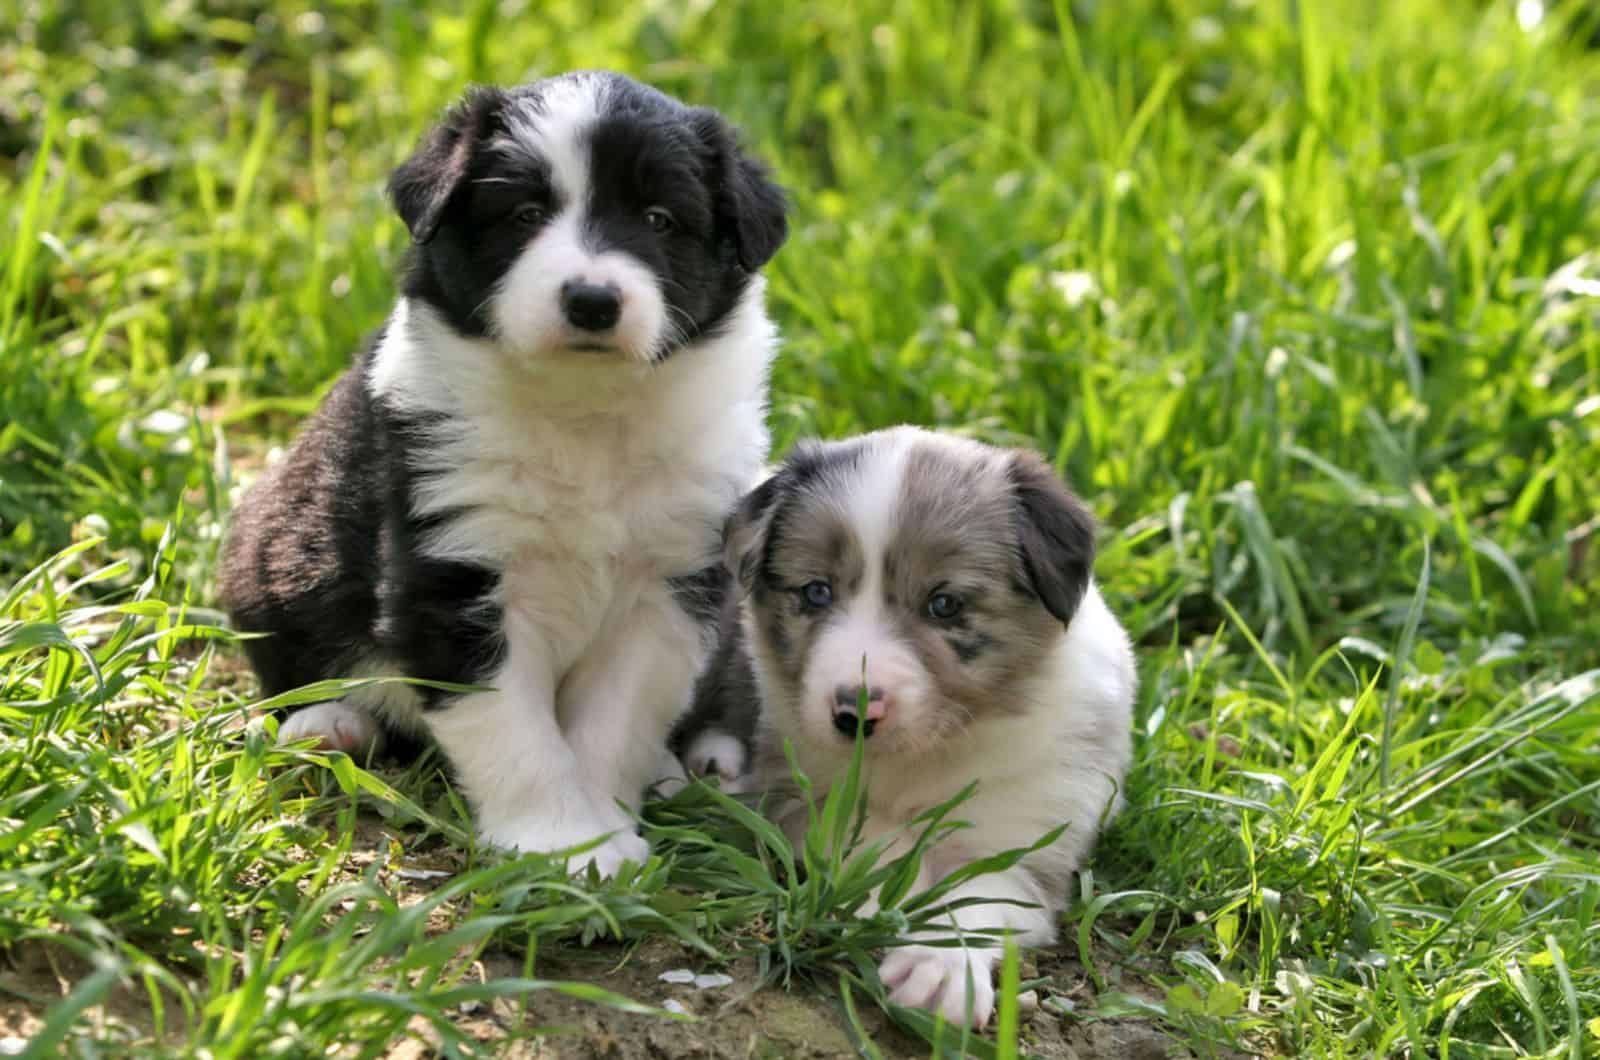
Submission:
<svg viewBox="0 0 1600 1060">
<path fill-rule="evenodd" d="M 1094 568 L 1094 517 L 1035 453 L 1016 450 L 1008 471 L 1022 573 L 1045 610 L 1069 623 Z"/>
</svg>

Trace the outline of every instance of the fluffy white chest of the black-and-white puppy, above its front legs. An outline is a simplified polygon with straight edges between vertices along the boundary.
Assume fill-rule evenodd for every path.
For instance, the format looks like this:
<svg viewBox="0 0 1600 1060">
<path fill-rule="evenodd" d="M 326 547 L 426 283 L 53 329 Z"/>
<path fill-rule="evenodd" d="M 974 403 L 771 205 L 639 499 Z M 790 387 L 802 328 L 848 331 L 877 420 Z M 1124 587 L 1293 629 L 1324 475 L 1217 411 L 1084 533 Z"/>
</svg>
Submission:
<svg viewBox="0 0 1600 1060">
<path fill-rule="evenodd" d="M 400 303 L 371 389 L 427 431 L 426 551 L 504 572 L 501 605 L 565 671 L 610 613 L 718 559 L 725 514 L 766 453 L 774 330 L 755 280 L 720 335 L 658 365 L 573 352 L 517 365 Z"/>
</svg>

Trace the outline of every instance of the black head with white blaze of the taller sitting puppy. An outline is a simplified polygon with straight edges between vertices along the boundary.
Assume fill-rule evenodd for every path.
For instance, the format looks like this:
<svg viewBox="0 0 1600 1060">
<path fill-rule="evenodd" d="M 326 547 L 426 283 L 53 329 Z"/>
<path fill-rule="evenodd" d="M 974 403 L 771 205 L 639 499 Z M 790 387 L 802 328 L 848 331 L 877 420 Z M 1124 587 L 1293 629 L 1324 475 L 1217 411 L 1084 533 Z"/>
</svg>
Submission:
<svg viewBox="0 0 1600 1060">
<path fill-rule="evenodd" d="M 714 110 L 616 74 L 478 88 L 390 179 L 406 295 L 514 355 L 651 363 L 714 333 L 786 235 Z"/>
</svg>

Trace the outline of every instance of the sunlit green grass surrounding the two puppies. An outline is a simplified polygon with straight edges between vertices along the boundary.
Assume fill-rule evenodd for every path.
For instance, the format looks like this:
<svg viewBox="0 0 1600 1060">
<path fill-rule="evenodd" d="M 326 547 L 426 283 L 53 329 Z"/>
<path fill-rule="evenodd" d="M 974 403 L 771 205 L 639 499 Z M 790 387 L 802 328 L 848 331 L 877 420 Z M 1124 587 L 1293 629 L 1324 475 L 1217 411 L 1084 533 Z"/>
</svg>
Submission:
<svg viewBox="0 0 1600 1060">
<path fill-rule="evenodd" d="M 246 471 L 390 303 L 387 170 L 467 80 L 610 66 L 728 110 L 794 192 L 781 444 L 1029 444 L 1107 527 L 1133 809 L 1062 924 L 1090 990 L 1032 1020 L 1600 1052 L 1589 6 L 613 6 L 0 8 L 0 970 L 77 954 L 21 999 L 32 1049 L 421 1018 L 482 1050 L 462 1004 L 590 990 L 541 954 L 602 937 L 755 954 L 856 1028 L 882 996 L 902 914 L 848 916 L 864 866 L 795 882 L 822 855 L 704 791 L 637 879 L 470 850 L 430 764 L 274 748 L 206 610 Z M 403 842 L 363 861 L 374 813 Z M 395 873 L 461 847 L 443 887 Z M 525 974 L 466 975 L 488 950 Z"/>
</svg>

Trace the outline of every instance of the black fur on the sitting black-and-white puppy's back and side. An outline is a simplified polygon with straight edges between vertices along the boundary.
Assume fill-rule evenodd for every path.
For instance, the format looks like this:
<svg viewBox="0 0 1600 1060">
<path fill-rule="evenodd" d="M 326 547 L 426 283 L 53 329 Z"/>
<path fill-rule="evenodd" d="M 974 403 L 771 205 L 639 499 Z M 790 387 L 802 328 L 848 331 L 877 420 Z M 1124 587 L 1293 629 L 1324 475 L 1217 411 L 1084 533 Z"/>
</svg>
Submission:
<svg viewBox="0 0 1600 1060">
<path fill-rule="evenodd" d="M 283 463 L 234 511 L 221 596 L 267 695 L 366 661 L 426 681 L 480 684 L 499 665 L 496 572 L 429 559 L 440 520 L 411 514 L 410 453 L 424 424 L 366 389 L 363 362 L 334 384 Z M 422 690 L 427 706 L 448 695 Z"/>
</svg>

